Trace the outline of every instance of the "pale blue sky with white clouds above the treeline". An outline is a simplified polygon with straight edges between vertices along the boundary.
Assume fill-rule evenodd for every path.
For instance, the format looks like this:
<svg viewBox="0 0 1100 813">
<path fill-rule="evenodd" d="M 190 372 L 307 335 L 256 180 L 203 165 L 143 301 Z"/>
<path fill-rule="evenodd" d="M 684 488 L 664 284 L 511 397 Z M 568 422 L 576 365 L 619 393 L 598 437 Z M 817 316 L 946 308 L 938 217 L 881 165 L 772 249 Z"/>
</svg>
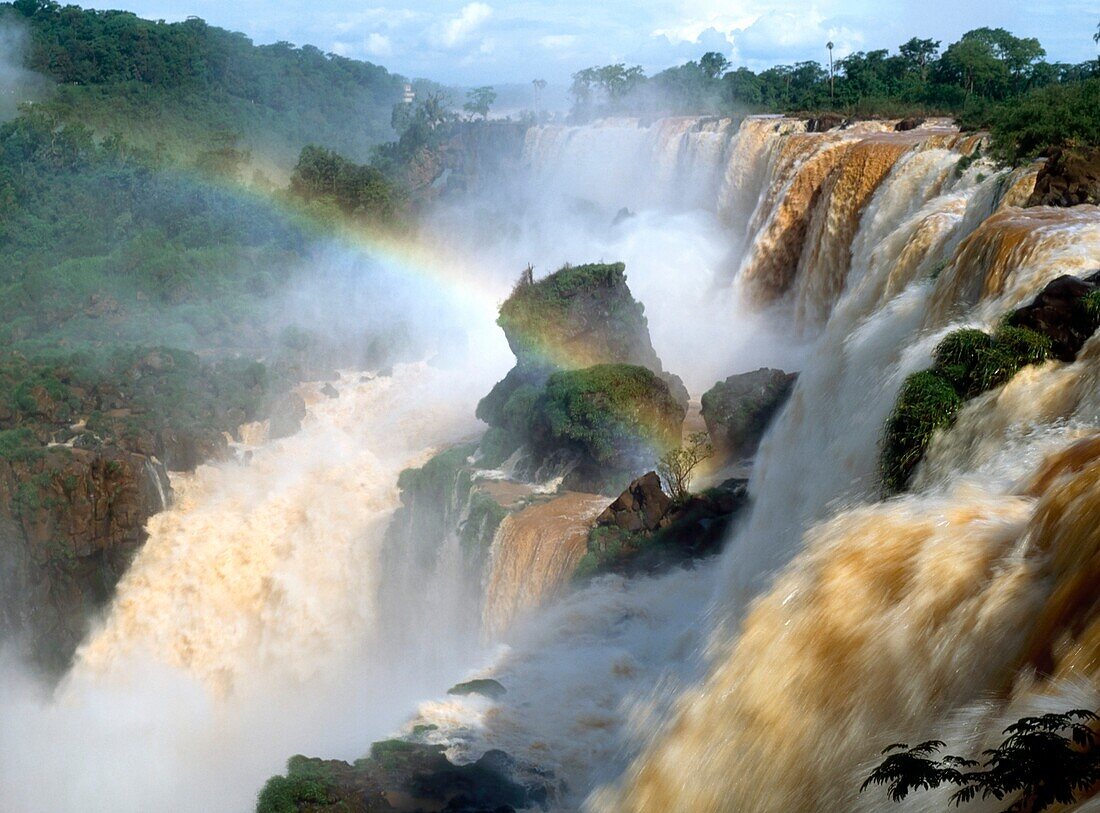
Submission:
<svg viewBox="0 0 1100 813">
<path fill-rule="evenodd" d="M 1096 0 L 108 0 L 143 17 L 198 15 L 257 43 L 288 40 L 447 84 L 568 81 L 610 62 L 648 72 L 721 51 L 754 69 L 981 25 L 1037 36 L 1048 58 L 1097 55 Z"/>
</svg>

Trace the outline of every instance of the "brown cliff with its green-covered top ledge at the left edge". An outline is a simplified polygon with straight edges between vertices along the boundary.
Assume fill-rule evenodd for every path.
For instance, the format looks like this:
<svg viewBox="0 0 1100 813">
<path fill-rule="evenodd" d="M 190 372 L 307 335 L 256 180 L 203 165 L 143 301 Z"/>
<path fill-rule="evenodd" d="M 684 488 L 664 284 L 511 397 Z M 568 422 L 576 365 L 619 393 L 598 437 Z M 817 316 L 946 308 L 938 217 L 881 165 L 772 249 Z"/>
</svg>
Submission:
<svg viewBox="0 0 1100 813">
<path fill-rule="evenodd" d="M 0 355 L 0 638 L 64 669 L 170 501 L 166 470 L 227 457 L 271 391 L 261 364 L 180 350 Z"/>
</svg>

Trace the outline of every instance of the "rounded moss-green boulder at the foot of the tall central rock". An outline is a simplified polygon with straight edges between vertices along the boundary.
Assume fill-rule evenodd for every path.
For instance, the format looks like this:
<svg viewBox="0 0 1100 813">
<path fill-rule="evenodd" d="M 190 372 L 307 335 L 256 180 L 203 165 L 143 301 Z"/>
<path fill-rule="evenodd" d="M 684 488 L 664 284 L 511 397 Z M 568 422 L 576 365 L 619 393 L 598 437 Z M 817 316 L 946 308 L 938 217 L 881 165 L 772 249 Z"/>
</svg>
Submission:
<svg viewBox="0 0 1100 813">
<path fill-rule="evenodd" d="M 554 373 L 537 413 L 554 441 L 575 444 L 597 464 L 613 468 L 640 444 L 662 449 L 674 443 L 684 416 L 668 384 L 632 364 Z"/>
</svg>

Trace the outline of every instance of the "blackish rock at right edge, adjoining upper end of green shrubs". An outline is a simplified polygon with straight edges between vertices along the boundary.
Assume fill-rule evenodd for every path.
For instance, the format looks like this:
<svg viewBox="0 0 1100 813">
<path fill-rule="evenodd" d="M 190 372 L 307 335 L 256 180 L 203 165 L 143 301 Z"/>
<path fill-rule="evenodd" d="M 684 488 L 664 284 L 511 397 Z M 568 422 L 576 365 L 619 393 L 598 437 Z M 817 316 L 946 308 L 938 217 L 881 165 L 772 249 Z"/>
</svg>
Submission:
<svg viewBox="0 0 1100 813">
<path fill-rule="evenodd" d="M 1084 279 L 1065 274 L 1052 279 L 1030 305 L 1009 317 L 1014 327 L 1030 328 L 1050 339 L 1053 355 L 1066 362 L 1096 331 L 1096 316 L 1085 306 L 1085 297 L 1100 286 L 1100 272 Z"/>
</svg>

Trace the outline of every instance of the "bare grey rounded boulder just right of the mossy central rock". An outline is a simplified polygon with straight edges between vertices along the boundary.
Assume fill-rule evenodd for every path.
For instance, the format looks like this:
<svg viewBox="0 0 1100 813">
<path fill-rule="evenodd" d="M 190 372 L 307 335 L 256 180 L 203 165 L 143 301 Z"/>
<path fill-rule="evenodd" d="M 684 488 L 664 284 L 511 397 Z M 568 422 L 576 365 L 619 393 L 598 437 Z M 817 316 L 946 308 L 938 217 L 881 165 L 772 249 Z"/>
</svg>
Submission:
<svg viewBox="0 0 1100 813">
<path fill-rule="evenodd" d="M 798 377 L 798 373 L 760 367 L 715 384 L 703 395 L 703 420 L 712 442 L 735 459 L 756 452 Z"/>
</svg>

